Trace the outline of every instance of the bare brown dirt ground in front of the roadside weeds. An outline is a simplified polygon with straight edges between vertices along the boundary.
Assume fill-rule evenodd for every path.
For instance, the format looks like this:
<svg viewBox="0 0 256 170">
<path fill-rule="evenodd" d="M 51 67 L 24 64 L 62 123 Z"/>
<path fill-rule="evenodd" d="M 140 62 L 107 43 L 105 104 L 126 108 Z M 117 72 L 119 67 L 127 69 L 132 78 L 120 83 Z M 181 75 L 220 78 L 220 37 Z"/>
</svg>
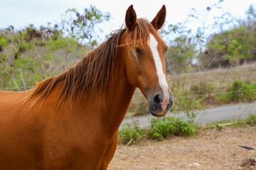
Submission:
<svg viewBox="0 0 256 170">
<path fill-rule="evenodd" d="M 252 147 L 245 149 L 240 146 Z M 195 137 L 117 146 L 110 170 L 255 169 L 256 127 L 200 130 Z"/>
</svg>

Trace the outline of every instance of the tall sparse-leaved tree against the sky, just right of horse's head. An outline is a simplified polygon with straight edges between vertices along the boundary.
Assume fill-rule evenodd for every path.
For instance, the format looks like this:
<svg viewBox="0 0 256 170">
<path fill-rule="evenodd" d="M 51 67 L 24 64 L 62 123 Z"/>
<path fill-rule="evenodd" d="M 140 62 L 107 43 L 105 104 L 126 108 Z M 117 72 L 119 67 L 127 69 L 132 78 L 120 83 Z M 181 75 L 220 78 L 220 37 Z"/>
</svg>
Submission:
<svg viewBox="0 0 256 170">
<path fill-rule="evenodd" d="M 222 13 L 221 16 L 213 16 L 216 11 L 220 13 L 222 2 L 220 0 L 210 4 L 203 11 L 192 8 L 186 21 L 164 27 L 163 35 L 169 40 L 170 46 L 166 57 L 167 69 L 171 68 L 171 72 L 176 73 L 186 72 L 188 67 L 194 64 L 198 66 L 197 69 L 206 68 L 203 55 L 207 45 L 206 39 L 212 33 L 223 32 L 230 23 L 233 23 L 233 16 L 228 12 Z M 193 23 L 197 23 L 198 26 L 193 28 Z"/>
</svg>

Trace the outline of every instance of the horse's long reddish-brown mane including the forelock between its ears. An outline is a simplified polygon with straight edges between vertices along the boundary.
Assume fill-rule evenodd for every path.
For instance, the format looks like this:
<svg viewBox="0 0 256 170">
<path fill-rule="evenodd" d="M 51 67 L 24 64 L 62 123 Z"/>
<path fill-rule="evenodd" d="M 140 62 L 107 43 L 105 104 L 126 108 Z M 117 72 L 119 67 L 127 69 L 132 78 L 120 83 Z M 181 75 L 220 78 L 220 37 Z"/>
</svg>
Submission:
<svg viewBox="0 0 256 170">
<path fill-rule="evenodd" d="M 142 46 L 149 40 L 149 30 L 157 32 L 149 21 L 139 18 L 134 30 L 129 31 L 126 28 L 120 28 L 114 31 L 108 40 L 87 53 L 74 67 L 36 84 L 31 89 L 31 94 L 26 101 L 34 98 L 34 105 L 44 101 L 60 83 L 63 83 L 59 96 L 61 103 L 64 103 L 68 98 L 74 101 L 78 96 L 90 96 L 96 92 L 104 93 L 112 76 L 114 63 L 117 60 L 117 47 L 127 45 L 132 54 L 136 55 L 136 46 Z M 126 33 L 126 43 L 119 45 L 124 33 Z"/>
</svg>

